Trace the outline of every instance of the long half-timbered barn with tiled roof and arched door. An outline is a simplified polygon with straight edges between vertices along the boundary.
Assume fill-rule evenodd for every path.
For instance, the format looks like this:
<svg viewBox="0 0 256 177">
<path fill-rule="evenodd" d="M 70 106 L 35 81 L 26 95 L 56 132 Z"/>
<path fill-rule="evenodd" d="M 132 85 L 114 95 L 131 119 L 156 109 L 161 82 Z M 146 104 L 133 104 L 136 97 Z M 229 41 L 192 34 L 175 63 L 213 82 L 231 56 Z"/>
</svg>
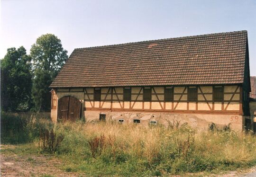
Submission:
<svg viewBox="0 0 256 177">
<path fill-rule="evenodd" d="M 74 49 L 50 87 L 55 122 L 253 124 L 247 31 Z"/>
</svg>

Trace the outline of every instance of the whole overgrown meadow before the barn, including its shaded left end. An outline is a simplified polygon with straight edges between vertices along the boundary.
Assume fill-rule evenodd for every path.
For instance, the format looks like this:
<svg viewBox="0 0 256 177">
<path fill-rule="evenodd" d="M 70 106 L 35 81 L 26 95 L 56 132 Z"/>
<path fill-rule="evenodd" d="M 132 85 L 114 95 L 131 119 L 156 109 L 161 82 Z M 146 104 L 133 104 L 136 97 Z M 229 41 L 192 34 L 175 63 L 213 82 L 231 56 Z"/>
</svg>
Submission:
<svg viewBox="0 0 256 177">
<path fill-rule="evenodd" d="M 37 115 L 1 113 L 1 144 L 10 151 L 62 161 L 64 172 L 86 176 L 219 174 L 256 165 L 256 136 L 209 126 L 199 131 L 170 122 L 141 126 L 118 122 L 53 124 Z"/>
</svg>

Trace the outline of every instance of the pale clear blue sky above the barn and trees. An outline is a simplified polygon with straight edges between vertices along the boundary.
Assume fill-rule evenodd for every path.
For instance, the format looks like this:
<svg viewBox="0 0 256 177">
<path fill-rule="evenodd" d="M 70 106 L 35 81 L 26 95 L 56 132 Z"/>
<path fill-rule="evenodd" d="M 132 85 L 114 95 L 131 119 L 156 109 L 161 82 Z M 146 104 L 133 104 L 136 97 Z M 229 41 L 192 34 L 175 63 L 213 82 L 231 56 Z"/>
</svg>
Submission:
<svg viewBox="0 0 256 177">
<path fill-rule="evenodd" d="M 1 0 L 0 58 L 9 47 L 29 53 L 38 36 L 74 48 L 248 31 L 256 76 L 256 0 Z"/>
</svg>

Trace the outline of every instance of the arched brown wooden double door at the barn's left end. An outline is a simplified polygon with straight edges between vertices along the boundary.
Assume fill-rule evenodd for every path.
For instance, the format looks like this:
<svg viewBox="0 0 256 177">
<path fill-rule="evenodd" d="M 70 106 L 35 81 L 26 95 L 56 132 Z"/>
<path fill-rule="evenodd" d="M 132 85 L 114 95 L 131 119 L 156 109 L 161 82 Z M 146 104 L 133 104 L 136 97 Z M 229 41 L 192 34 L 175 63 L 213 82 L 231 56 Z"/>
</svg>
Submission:
<svg viewBox="0 0 256 177">
<path fill-rule="evenodd" d="M 58 102 L 58 119 L 75 121 L 80 118 L 81 102 L 71 96 L 62 97 Z"/>
</svg>

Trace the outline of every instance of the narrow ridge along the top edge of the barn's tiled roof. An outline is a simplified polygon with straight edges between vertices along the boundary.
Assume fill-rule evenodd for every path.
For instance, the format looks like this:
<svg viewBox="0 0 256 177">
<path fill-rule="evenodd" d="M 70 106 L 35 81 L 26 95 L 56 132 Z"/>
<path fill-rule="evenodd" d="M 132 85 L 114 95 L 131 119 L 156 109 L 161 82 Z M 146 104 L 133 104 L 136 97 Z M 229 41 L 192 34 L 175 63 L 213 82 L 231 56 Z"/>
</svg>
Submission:
<svg viewBox="0 0 256 177">
<path fill-rule="evenodd" d="M 164 39 L 153 39 L 153 40 L 145 40 L 145 41 L 137 41 L 137 42 L 128 42 L 128 43 L 121 43 L 121 44 L 109 44 L 109 45 L 98 45 L 98 46 L 91 46 L 91 47 L 80 47 L 75 48 L 75 50 L 79 49 L 92 49 L 92 48 L 101 48 L 101 47 L 108 47 L 108 46 L 118 46 L 118 45 L 127 45 L 127 44 L 137 44 L 137 43 L 143 43 L 143 42 L 155 42 L 155 41 L 165 41 L 170 39 L 183 39 L 183 38 L 193 38 L 193 37 L 204 37 L 204 36 L 210 36 L 210 35 L 228 35 L 232 33 L 247 33 L 247 30 L 240 30 L 240 31 L 230 31 L 230 32 L 222 32 L 222 33 L 210 33 L 205 35 L 188 35 L 188 36 L 182 36 L 182 37 L 171 37 L 171 38 L 164 38 Z"/>
</svg>

